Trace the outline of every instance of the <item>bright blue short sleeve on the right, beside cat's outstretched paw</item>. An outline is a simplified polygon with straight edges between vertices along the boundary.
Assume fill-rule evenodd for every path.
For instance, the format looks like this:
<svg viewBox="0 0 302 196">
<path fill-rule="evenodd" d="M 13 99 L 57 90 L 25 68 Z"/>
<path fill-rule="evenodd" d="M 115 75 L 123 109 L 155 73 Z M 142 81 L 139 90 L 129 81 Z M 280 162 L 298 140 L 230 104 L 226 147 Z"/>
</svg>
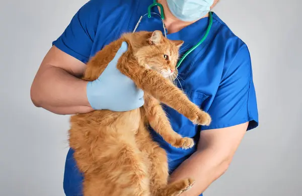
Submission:
<svg viewBox="0 0 302 196">
<path fill-rule="evenodd" d="M 248 130 L 258 126 L 251 58 L 245 44 L 223 73 L 208 113 L 212 122 L 209 126 L 201 127 L 201 130 L 231 127 L 246 122 L 249 122 Z"/>
</svg>

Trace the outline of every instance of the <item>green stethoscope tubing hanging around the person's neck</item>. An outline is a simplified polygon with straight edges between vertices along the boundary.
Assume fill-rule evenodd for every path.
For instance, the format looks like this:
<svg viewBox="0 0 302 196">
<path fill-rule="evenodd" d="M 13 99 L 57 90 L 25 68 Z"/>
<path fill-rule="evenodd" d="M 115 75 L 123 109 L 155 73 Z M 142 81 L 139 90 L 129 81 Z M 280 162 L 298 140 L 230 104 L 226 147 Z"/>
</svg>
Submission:
<svg viewBox="0 0 302 196">
<path fill-rule="evenodd" d="M 153 4 L 150 5 L 148 7 L 148 18 L 151 18 L 151 9 L 155 6 L 159 6 L 161 8 L 161 18 L 162 20 L 165 19 L 165 14 L 164 14 L 164 8 L 163 8 L 163 5 L 162 4 L 159 4 L 156 2 L 156 0 L 153 1 Z M 210 33 L 210 30 L 211 30 L 211 27 L 212 27 L 212 24 L 213 24 L 213 16 L 212 16 L 212 12 L 209 12 L 209 25 L 206 29 L 206 32 L 203 36 L 203 38 L 195 45 L 193 46 L 190 50 L 188 50 L 184 55 L 183 57 L 178 61 L 177 65 L 176 65 L 176 68 L 178 68 L 181 63 L 185 60 L 185 58 L 193 51 L 195 50 L 198 46 L 200 46 L 200 44 L 202 44 L 204 42 L 204 40 L 207 38 L 207 36 L 209 35 Z"/>
</svg>

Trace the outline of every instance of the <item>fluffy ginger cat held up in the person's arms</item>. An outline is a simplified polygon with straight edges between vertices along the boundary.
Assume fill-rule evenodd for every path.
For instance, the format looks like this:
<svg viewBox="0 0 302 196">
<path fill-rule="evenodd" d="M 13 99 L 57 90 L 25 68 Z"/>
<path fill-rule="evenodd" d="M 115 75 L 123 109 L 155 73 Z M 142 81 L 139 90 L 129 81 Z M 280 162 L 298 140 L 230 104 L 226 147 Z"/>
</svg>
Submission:
<svg viewBox="0 0 302 196">
<path fill-rule="evenodd" d="M 173 131 L 160 102 L 195 124 L 210 124 L 210 116 L 169 79 L 176 70 L 183 41 L 168 40 L 160 31 L 124 34 L 88 62 L 83 79 L 97 79 L 123 41 L 128 43 L 128 50 L 120 57 L 117 68 L 144 90 L 145 104 L 128 112 L 101 110 L 71 117 L 69 144 L 84 174 L 84 195 L 179 195 L 194 180 L 168 184 L 166 152 L 152 140 L 146 127 L 150 125 L 172 146 L 187 149 L 194 145 L 191 138 Z"/>
</svg>

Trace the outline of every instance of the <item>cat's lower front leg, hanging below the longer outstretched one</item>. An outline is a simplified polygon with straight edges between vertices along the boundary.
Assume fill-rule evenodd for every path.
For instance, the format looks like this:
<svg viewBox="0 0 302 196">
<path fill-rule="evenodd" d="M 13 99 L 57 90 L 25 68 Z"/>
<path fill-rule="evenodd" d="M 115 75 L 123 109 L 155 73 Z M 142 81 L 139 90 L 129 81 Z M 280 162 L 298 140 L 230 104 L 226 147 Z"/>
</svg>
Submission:
<svg viewBox="0 0 302 196">
<path fill-rule="evenodd" d="M 182 137 L 171 127 L 170 121 L 160 103 L 150 96 L 144 96 L 144 109 L 148 123 L 163 139 L 177 148 L 188 149 L 194 146 L 194 140 Z"/>
</svg>

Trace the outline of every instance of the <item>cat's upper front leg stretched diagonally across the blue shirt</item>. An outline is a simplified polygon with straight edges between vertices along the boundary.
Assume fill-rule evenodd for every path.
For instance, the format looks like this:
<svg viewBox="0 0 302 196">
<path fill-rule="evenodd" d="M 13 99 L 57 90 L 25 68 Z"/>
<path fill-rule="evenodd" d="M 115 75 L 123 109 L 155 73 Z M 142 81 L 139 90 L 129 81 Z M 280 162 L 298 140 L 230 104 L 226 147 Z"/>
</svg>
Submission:
<svg viewBox="0 0 302 196">
<path fill-rule="evenodd" d="M 194 124 L 210 124 L 211 118 L 209 114 L 192 103 L 183 91 L 160 73 L 138 65 L 131 53 L 125 53 L 119 59 L 117 68 L 130 77 L 139 88 L 183 114 Z"/>
</svg>

